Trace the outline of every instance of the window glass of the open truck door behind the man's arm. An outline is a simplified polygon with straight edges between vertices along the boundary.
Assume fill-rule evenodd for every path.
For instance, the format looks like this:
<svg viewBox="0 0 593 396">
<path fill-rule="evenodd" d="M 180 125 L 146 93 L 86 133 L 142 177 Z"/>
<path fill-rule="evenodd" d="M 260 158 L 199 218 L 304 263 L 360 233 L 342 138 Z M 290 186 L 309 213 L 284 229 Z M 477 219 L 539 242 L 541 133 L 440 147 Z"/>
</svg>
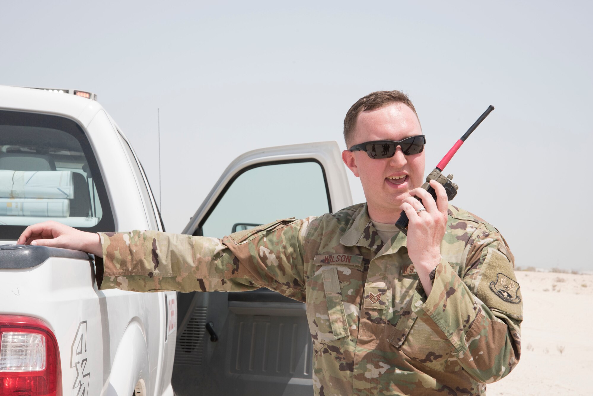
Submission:
<svg viewBox="0 0 593 396">
<path fill-rule="evenodd" d="M 327 212 L 327 180 L 317 161 L 268 162 L 235 175 L 197 234 L 222 238 L 277 219 Z"/>
</svg>

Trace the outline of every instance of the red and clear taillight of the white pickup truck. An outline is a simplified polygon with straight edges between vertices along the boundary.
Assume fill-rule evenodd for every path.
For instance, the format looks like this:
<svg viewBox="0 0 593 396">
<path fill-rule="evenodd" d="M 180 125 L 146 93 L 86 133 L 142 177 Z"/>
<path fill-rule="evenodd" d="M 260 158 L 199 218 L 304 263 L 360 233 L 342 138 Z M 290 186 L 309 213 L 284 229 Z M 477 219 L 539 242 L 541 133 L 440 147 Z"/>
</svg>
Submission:
<svg viewBox="0 0 593 396">
<path fill-rule="evenodd" d="M 58 342 L 37 318 L 0 315 L 0 396 L 62 396 Z"/>
</svg>

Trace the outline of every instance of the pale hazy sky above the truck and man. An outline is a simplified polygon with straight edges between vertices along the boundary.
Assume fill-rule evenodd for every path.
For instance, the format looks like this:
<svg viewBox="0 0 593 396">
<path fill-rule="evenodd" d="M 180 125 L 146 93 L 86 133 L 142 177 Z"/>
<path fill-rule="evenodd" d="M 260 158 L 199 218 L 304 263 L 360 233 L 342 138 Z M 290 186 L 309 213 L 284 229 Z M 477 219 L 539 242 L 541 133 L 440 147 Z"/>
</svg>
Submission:
<svg viewBox="0 0 593 396">
<path fill-rule="evenodd" d="M 245 151 L 344 148 L 345 113 L 371 91 L 410 95 L 427 172 L 492 104 L 447 167 L 453 203 L 495 225 L 518 266 L 593 270 L 591 2 L 285 3 L 5 2 L 0 84 L 97 93 L 157 200 L 160 108 L 173 232 Z"/>
</svg>

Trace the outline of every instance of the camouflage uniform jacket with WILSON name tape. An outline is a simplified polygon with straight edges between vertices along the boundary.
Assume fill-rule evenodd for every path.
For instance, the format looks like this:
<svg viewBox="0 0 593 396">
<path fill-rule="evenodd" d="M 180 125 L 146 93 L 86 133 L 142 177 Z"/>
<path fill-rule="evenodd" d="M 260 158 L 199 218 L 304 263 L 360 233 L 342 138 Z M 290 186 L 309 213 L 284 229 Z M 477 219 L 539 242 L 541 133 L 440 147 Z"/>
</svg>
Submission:
<svg viewBox="0 0 593 396">
<path fill-rule="evenodd" d="M 455 206 L 428 298 L 406 236 L 384 244 L 363 204 L 223 239 L 157 231 L 100 237 L 101 289 L 261 286 L 307 304 L 316 395 L 483 395 L 486 382 L 519 360 L 514 258 L 495 228 Z"/>
</svg>

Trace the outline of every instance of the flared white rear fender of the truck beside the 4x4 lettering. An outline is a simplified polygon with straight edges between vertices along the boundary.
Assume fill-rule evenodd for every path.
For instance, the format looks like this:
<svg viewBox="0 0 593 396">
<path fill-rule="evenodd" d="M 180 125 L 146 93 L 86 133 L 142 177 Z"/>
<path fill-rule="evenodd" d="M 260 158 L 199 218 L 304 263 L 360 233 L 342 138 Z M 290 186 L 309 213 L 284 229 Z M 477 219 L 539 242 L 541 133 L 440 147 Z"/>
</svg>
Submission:
<svg viewBox="0 0 593 396">
<path fill-rule="evenodd" d="M 145 384 L 150 384 L 149 376 L 148 348 L 144 331 L 138 321 L 132 320 L 117 346 L 104 395 L 131 395 L 140 379 Z"/>
</svg>

